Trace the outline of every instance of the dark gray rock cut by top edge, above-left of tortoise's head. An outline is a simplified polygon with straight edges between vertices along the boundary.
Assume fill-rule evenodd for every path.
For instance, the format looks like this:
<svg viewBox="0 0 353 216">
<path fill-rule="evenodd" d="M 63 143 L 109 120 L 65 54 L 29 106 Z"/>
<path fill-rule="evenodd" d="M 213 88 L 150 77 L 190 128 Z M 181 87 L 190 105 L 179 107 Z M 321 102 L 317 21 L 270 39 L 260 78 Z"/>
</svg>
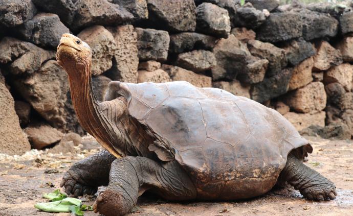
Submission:
<svg viewBox="0 0 353 216">
<path fill-rule="evenodd" d="M 32 2 L 42 11 L 57 14 L 65 25 L 71 25 L 75 11 L 77 10 L 77 0 L 32 0 Z"/>
</svg>

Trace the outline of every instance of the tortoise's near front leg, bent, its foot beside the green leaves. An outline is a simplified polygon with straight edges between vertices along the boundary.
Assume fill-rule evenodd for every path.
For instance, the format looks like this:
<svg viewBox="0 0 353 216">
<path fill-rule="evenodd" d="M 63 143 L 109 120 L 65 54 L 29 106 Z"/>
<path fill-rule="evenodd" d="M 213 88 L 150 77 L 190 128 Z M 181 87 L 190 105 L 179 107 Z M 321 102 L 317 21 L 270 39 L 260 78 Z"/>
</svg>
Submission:
<svg viewBox="0 0 353 216">
<path fill-rule="evenodd" d="M 193 183 L 177 162 L 160 164 L 145 157 L 124 157 L 112 163 L 109 184 L 93 209 L 105 216 L 124 215 L 146 190 L 167 200 L 196 198 Z"/>
</svg>

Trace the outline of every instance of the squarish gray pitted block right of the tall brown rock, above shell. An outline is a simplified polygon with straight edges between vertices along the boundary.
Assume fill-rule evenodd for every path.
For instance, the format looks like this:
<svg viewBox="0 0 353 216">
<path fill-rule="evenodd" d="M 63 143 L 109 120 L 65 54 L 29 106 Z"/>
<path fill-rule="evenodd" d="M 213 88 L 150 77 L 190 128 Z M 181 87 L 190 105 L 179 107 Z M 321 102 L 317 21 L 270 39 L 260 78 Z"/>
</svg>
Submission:
<svg viewBox="0 0 353 216">
<path fill-rule="evenodd" d="M 168 57 L 169 34 L 154 29 L 135 29 L 137 33 L 138 57 L 141 61 L 165 61 Z"/>
</svg>

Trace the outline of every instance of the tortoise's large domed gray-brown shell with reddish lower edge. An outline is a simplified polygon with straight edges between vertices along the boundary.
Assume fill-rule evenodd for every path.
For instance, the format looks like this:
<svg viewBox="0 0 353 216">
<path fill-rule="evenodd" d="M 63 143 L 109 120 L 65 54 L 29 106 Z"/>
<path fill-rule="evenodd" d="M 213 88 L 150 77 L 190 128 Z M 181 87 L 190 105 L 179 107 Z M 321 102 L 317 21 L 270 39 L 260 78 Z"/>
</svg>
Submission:
<svg viewBox="0 0 353 216">
<path fill-rule="evenodd" d="M 289 152 L 308 145 L 277 111 L 222 89 L 184 81 L 117 83 L 129 114 L 157 138 L 149 149 L 161 160 L 177 160 L 199 199 L 266 193 Z"/>
</svg>

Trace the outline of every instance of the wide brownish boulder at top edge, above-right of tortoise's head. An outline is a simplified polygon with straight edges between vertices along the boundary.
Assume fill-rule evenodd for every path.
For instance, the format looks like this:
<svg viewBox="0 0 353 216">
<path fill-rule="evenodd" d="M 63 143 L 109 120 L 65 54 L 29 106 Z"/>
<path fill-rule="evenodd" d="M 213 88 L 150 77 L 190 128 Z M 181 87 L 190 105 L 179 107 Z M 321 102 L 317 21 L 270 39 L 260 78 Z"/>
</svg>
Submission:
<svg viewBox="0 0 353 216">
<path fill-rule="evenodd" d="M 92 25 L 118 25 L 134 20 L 134 15 L 122 6 L 107 0 L 78 1 L 71 29 L 80 30 Z"/>
</svg>

